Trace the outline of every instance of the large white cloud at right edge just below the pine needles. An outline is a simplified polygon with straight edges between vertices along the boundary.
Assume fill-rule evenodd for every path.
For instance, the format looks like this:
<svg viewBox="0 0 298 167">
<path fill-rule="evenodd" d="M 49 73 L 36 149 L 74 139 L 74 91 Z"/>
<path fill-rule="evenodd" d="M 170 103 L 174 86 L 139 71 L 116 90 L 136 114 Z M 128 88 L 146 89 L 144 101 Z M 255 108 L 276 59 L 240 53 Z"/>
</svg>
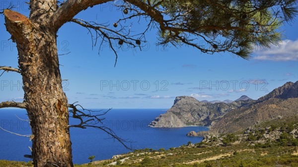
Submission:
<svg viewBox="0 0 298 167">
<path fill-rule="evenodd" d="M 298 40 L 284 40 L 280 46 L 272 46 L 266 51 L 256 51 L 254 59 L 273 61 L 297 61 L 298 60 Z"/>
</svg>

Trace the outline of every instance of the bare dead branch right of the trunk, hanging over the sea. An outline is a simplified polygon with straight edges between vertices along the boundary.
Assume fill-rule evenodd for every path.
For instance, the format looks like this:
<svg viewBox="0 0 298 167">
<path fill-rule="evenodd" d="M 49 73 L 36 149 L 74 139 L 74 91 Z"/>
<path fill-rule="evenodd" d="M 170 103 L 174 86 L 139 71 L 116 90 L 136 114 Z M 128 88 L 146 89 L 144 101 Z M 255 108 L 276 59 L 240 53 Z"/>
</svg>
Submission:
<svg viewBox="0 0 298 167">
<path fill-rule="evenodd" d="M 126 143 L 132 143 L 132 141 L 128 141 L 128 140 L 122 139 L 121 137 L 117 136 L 117 134 L 112 129 L 110 129 L 109 127 L 98 125 L 98 124 L 102 123 L 102 120 L 105 119 L 101 116 L 106 114 L 108 111 L 110 111 L 112 109 L 109 109 L 109 110 L 104 111 L 104 112 L 102 112 L 103 110 L 92 111 L 92 110 L 84 109 L 80 105 L 74 105 L 74 104 L 69 104 L 68 105 L 68 108 L 72 109 L 72 110 L 69 111 L 70 112 L 70 117 L 78 119 L 80 121 L 80 123 L 76 124 L 76 125 L 69 125 L 69 127 L 78 127 L 78 128 L 82 128 L 82 129 L 85 129 L 87 127 L 93 127 L 95 129 L 103 130 L 108 135 L 110 135 L 113 139 L 119 141 L 125 148 L 127 148 L 129 150 L 132 150 L 131 146 L 128 147 L 126 145 Z M 81 108 L 81 110 L 78 110 L 77 107 Z M 101 112 L 101 113 L 93 115 L 92 113 L 95 113 L 95 112 Z"/>
</svg>

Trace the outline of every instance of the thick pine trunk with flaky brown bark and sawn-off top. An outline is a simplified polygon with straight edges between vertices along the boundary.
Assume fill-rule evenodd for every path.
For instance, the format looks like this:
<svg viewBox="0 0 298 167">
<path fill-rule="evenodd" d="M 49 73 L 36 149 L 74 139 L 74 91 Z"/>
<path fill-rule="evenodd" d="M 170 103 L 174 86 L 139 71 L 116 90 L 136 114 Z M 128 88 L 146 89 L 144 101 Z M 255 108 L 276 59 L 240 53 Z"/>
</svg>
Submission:
<svg viewBox="0 0 298 167">
<path fill-rule="evenodd" d="M 32 14 L 32 13 L 31 13 Z M 34 167 L 73 167 L 67 97 L 62 89 L 56 30 L 18 12 L 4 10 L 16 42 L 24 101 L 32 128 Z"/>
</svg>

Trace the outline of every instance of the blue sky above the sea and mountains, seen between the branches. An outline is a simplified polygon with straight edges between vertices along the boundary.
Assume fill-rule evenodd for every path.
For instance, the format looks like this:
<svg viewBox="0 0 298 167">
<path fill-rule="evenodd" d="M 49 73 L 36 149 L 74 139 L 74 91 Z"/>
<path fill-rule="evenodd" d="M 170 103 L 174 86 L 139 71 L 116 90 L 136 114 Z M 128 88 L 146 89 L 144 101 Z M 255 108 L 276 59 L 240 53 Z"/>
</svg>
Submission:
<svg viewBox="0 0 298 167">
<path fill-rule="evenodd" d="M 16 11 L 28 16 L 24 1 L 1 1 L 0 8 L 11 2 Z M 75 18 L 109 22 L 123 17 L 110 4 L 94 6 Z M 146 20 L 134 22 L 132 31 L 144 29 Z M 58 32 L 58 54 L 64 90 L 69 103 L 85 108 L 162 108 L 173 105 L 176 96 L 198 100 L 235 100 L 241 95 L 258 99 L 284 83 L 298 79 L 298 21 L 281 27 L 284 38 L 280 47 L 256 48 L 250 60 L 228 53 L 203 54 L 192 47 L 156 46 L 156 30 L 146 34 L 143 51 L 119 49 L 115 55 L 106 46 L 94 46 L 88 31 L 74 23 Z M 15 44 L 0 15 L 0 66 L 17 67 Z M 98 51 L 99 54 L 98 54 Z M 0 77 L 0 101 L 21 101 L 23 91 L 19 74 Z"/>
</svg>

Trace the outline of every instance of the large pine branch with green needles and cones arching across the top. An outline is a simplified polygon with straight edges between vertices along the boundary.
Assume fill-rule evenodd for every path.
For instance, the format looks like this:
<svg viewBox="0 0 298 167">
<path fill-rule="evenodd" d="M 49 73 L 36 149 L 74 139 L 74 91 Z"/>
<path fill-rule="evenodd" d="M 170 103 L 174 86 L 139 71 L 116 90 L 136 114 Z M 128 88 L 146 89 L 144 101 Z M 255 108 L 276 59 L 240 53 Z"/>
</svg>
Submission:
<svg viewBox="0 0 298 167">
<path fill-rule="evenodd" d="M 122 8 L 127 15 L 114 23 L 114 27 L 121 26 L 119 31 L 107 28 L 109 25 L 101 26 L 96 22 L 73 18 L 88 7 L 109 1 L 112 4 L 112 0 L 68 0 L 54 12 L 49 24 L 58 30 L 64 23 L 72 21 L 86 27 L 90 34 L 94 30 L 96 36 L 93 38 L 91 35 L 92 44 L 93 39 L 96 44 L 98 38 L 109 43 L 116 55 L 116 62 L 117 52 L 111 40 L 118 40 L 119 45 L 126 43 L 131 47 L 138 46 L 140 39 L 146 41 L 144 34 L 150 26 L 159 29 L 159 45 L 186 45 L 207 54 L 229 52 L 248 59 L 254 46 L 279 44 L 282 32 L 275 30 L 282 23 L 293 20 L 298 13 L 297 0 L 203 0 L 204 3 L 197 0 L 187 3 L 180 0 L 121 0 L 120 4 L 112 4 Z M 130 35 L 135 40 L 125 38 L 125 30 L 130 30 L 130 27 L 126 29 L 121 23 L 141 16 L 150 19 L 146 31 Z"/>
</svg>

